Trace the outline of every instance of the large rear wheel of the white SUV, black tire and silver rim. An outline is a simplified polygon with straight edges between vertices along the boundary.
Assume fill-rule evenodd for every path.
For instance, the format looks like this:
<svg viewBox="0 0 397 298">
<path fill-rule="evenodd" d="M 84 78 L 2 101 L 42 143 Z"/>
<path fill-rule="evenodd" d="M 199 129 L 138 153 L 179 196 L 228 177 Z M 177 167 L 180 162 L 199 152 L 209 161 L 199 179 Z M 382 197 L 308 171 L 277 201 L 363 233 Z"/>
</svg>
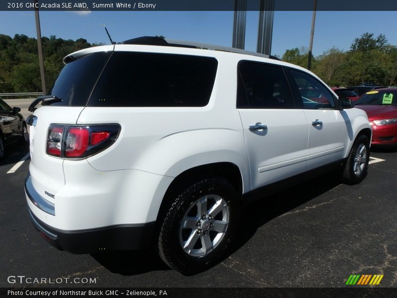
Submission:
<svg viewBox="0 0 397 298">
<path fill-rule="evenodd" d="M 205 178 L 186 185 L 175 197 L 168 205 L 165 216 L 160 219 L 158 252 L 161 259 L 172 269 L 184 274 L 195 274 L 215 265 L 227 252 L 239 224 L 240 202 L 230 182 L 220 177 Z M 205 213 L 199 212 L 199 206 L 201 210 L 206 209 Z M 210 213 L 215 210 L 214 206 L 218 206 L 218 213 Z M 200 214 L 206 215 L 205 219 Z M 213 218 L 210 218 L 211 214 Z M 193 218 L 195 220 L 188 220 Z M 200 226 L 197 226 L 196 221 L 200 222 Z M 184 227 L 182 222 L 195 226 Z M 224 233 L 215 230 L 220 226 L 226 230 Z M 190 252 L 182 247 L 184 241 L 191 243 Z M 186 243 L 185 249 L 189 250 Z M 204 247 L 202 243 L 211 245 Z"/>
</svg>

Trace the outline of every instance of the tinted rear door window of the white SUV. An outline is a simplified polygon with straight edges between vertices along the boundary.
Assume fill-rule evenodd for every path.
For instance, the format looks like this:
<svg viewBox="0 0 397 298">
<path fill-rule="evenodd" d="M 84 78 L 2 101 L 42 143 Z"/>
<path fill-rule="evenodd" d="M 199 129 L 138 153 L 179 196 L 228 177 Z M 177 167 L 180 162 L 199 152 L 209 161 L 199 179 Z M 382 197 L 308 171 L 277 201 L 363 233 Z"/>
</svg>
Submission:
<svg viewBox="0 0 397 298">
<path fill-rule="evenodd" d="M 237 107 L 252 109 L 293 108 L 288 81 L 281 67 L 240 62 Z"/>
</svg>

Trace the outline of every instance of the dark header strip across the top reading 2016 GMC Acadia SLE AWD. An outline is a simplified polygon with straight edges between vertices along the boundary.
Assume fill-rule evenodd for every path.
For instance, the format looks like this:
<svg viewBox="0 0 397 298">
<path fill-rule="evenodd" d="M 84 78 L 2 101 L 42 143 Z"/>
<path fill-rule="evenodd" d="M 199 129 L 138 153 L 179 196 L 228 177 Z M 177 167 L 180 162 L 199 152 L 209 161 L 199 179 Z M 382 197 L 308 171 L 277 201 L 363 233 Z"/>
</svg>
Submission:
<svg viewBox="0 0 397 298">
<path fill-rule="evenodd" d="M 313 0 L 274 0 L 274 10 L 311 11 Z M 234 10 L 235 0 L 1 0 L 0 10 L 29 11 L 221 11 Z M 247 10 L 260 9 L 260 0 L 248 0 Z M 318 0 L 318 11 L 397 11 L 396 0 Z"/>
</svg>

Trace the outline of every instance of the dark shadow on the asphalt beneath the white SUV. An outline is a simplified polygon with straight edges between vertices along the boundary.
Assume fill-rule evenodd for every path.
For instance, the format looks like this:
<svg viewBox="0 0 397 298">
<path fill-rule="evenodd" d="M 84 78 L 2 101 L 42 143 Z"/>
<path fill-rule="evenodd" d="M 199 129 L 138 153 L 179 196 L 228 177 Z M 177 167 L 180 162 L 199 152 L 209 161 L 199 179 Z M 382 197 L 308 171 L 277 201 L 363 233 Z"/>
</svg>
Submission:
<svg viewBox="0 0 397 298">
<path fill-rule="evenodd" d="M 318 181 L 322 181 L 322 183 L 318 183 Z M 242 219 L 246 218 L 249 220 L 240 221 L 240 228 L 231 252 L 224 256 L 223 260 L 244 246 L 262 225 L 318 197 L 339 184 L 339 175 L 331 172 L 318 176 L 315 180 L 312 179 L 297 184 L 272 195 L 266 196 L 264 193 L 262 199 L 256 200 L 243 208 Z M 112 273 L 126 276 L 156 270 L 169 270 L 154 249 L 108 252 L 92 254 L 91 256 Z"/>
</svg>

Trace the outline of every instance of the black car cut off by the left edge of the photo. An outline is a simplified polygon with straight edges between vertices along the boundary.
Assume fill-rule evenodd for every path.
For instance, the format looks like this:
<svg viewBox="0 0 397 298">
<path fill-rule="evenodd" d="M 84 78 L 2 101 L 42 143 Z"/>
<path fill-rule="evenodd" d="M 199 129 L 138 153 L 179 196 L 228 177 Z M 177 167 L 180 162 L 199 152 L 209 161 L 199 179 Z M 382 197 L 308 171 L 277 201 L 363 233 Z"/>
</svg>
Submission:
<svg viewBox="0 0 397 298">
<path fill-rule="evenodd" d="M 27 144 L 29 135 L 25 119 L 19 114 L 20 108 L 11 108 L 0 99 L 0 158 L 4 155 L 5 146 L 20 142 Z"/>
</svg>

